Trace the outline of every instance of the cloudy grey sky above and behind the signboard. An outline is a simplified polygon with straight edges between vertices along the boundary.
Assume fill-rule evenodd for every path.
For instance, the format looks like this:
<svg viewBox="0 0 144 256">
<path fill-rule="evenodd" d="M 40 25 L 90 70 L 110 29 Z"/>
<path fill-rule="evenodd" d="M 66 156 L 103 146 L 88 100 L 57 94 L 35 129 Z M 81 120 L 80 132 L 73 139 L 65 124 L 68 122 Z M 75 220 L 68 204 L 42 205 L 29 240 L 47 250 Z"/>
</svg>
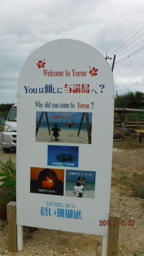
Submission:
<svg viewBox="0 0 144 256">
<path fill-rule="evenodd" d="M 16 102 L 19 72 L 28 56 L 61 38 L 84 41 L 104 57 L 116 53 L 118 94 L 144 92 L 143 26 L 143 0 L 0 0 L 0 104 Z"/>
</svg>

